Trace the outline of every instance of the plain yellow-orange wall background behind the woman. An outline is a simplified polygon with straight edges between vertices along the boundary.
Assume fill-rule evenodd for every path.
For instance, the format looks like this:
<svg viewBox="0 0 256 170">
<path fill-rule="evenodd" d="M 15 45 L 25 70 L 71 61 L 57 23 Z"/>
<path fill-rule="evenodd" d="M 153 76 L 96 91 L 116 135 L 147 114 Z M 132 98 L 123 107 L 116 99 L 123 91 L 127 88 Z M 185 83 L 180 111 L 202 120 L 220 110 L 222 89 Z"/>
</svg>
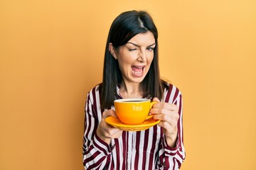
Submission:
<svg viewBox="0 0 256 170">
<path fill-rule="evenodd" d="M 256 169 L 256 1 L 0 0 L 0 169 L 83 169 L 87 91 L 107 33 L 149 11 L 183 92 L 183 170 Z"/>
</svg>

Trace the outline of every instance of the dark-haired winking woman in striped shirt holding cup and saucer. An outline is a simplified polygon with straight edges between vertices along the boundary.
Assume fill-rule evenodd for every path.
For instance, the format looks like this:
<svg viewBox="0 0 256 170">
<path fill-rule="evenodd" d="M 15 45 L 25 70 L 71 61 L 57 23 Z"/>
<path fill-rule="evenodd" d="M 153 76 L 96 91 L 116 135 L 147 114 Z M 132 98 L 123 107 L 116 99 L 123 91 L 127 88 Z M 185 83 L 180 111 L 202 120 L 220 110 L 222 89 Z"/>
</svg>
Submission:
<svg viewBox="0 0 256 170">
<path fill-rule="evenodd" d="M 85 169 L 179 169 L 185 159 L 182 97 L 160 79 L 158 33 L 145 11 L 127 11 L 113 21 L 107 38 L 102 84 L 87 94 L 83 164 Z M 108 125 L 117 117 L 117 98 L 151 98 L 150 113 L 161 120 L 147 130 Z"/>
</svg>

